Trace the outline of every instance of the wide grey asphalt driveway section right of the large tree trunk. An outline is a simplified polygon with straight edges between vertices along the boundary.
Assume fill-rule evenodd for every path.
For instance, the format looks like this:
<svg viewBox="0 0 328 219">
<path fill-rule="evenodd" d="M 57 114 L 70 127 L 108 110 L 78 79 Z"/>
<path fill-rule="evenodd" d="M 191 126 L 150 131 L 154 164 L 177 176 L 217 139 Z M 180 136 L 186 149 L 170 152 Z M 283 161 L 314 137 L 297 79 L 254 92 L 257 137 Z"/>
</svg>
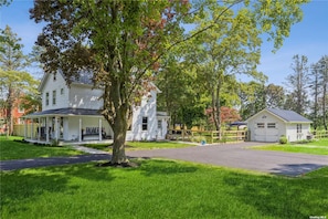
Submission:
<svg viewBox="0 0 328 219">
<path fill-rule="evenodd" d="M 163 157 L 218 166 L 298 176 L 328 166 L 328 156 L 250 149 L 265 143 L 128 152 L 133 157 Z"/>
</svg>

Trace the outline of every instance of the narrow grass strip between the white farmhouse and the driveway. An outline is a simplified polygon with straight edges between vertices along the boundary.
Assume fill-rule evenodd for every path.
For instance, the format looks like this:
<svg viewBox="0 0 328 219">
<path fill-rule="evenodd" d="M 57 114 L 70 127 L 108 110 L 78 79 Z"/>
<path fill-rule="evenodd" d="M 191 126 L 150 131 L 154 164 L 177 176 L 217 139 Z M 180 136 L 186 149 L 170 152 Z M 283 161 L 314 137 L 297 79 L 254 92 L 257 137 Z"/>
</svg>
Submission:
<svg viewBox="0 0 328 219">
<path fill-rule="evenodd" d="M 86 147 L 100 149 L 105 152 L 112 152 L 112 147 L 108 144 L 87 144 Z M 157 149 L 157 148 L 178 148 L 178 147 L 190 147 L 191 144 L 188 143 L 177 143 L 177 142 L 127 142 L 126 149 Z"/>
</svg>

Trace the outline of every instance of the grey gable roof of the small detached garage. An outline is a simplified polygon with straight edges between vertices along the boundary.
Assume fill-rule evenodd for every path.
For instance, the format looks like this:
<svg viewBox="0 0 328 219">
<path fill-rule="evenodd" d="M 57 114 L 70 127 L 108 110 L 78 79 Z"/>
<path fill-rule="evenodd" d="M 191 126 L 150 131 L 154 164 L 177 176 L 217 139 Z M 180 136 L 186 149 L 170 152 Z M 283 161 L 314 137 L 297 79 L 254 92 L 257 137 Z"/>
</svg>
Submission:
<svg viewBox="0 0 328 219">
<path fill-rule="evenodd" d="M 260 113 L 262 113 L 264 111 L 279 117 L 281 119 L 283 119 L 287 123 L 311 123 L 310 119 L 299 115 L 298 113 L 296 113 L 294 111 L 286 111 L 286 109 L 279 109 L 279 108 L 265 108 L 265 109 L 261 111 Z M 257 113 L 257 114 L 260 114 L 260 113 Z M 257 114 L 247 118 L 247 121 L 255 117 Z"/>
</svg>

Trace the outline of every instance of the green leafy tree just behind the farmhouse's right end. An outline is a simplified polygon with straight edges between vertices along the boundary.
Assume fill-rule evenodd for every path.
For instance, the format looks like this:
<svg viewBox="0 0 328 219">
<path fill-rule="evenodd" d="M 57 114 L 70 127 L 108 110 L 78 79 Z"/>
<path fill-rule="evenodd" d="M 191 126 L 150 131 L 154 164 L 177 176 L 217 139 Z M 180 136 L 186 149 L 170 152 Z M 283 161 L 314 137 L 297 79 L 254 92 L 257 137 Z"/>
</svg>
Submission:
<svg viewBox="0 0 328 219">
<path fill-rule="evenodd" d="M 158 95 L 157 106 L 167 111 L 172 124 L 186 124 L 188 128 L 205 123 L 204 111 L 209 100 L 200 91 L 195 71 L 182 62 L 182 51 L 173 50 L 166 58 L 156 79 L 162 92 Z"/>
</svg>

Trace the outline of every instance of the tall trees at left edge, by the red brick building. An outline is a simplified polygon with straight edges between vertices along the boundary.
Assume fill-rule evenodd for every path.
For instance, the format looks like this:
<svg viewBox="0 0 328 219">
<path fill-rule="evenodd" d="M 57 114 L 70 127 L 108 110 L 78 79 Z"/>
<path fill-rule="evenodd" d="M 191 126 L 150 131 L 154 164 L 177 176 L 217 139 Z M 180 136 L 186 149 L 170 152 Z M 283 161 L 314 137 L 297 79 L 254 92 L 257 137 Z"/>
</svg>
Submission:
<svg viewBox="0 0 328 219">
<path fill-rule="evenodd" d="M 19 122 L 12 115 L 14 108 L 24 114 L 41 111 L 40 80 L 29 73 L 32 66 L 40 65 L 41 48 L 34 46 L 30 54 L 24 54 L 23 46 L 9 25 L 0 30 L 0 129 L 7 135 Z"/>
</svg>

